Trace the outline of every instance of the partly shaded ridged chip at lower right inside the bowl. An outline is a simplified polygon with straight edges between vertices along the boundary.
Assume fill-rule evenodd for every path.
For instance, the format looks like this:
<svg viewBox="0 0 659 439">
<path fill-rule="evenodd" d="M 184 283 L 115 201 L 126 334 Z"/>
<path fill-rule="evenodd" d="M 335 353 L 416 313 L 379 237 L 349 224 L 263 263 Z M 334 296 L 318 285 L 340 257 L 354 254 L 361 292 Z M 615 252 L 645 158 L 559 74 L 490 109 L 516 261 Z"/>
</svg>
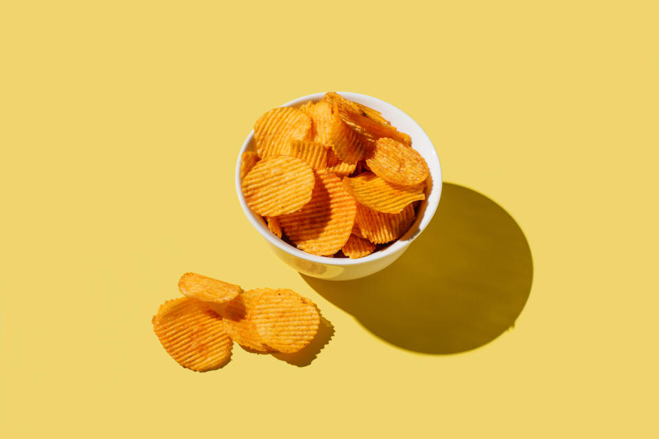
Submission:
<svg viewBox="0 0 659 439">
<path fill-rule="evenodd" d="M 405 206 L 400 213 L 382 213 L 358 203 L 355 224 L 360 230 L 358 236 L 365 237 L 373 244 L 385 244 L 402 237 L 414 219 L 413 204 Z"/>
</svg>

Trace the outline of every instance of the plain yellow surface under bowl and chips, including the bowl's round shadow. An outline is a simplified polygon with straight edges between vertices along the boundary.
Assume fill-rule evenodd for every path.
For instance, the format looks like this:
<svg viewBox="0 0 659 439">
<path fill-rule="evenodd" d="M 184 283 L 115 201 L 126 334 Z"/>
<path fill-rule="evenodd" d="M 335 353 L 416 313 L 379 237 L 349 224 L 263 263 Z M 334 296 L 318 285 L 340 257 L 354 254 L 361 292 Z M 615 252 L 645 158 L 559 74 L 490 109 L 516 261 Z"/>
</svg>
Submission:
<svg viewBox="0 0 659 439">
<path fill-rule="evenodd" d="M 0 6 L 2 438 L 657 437 L 655 2 L 220 3 Z M 257 117 L 328 90 L 408 112 L 454 183 L 345 286 L 233 188 Z M 185 370 L 150 319 L 187 271 L 309 296 L 332 340 Z"/>
</svg>

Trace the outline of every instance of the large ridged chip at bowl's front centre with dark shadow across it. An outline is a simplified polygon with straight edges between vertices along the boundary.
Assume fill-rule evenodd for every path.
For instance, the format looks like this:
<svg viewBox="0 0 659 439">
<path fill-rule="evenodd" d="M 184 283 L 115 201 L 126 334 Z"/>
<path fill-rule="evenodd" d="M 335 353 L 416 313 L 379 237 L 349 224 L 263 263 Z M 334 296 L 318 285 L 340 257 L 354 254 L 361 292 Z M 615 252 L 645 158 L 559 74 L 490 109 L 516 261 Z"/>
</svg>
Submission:
<svg viewBox="0 0 659 439">
<path fill-rule="evenodd" d="M 343 189 L 340 178 L 327 171 L 316 171 L 311 201 L 297 212 L 281 215 L 279 224 L 297 248 L 325 256 L 343 247 L 355 215 L 355 199 Z"/>
</svg>

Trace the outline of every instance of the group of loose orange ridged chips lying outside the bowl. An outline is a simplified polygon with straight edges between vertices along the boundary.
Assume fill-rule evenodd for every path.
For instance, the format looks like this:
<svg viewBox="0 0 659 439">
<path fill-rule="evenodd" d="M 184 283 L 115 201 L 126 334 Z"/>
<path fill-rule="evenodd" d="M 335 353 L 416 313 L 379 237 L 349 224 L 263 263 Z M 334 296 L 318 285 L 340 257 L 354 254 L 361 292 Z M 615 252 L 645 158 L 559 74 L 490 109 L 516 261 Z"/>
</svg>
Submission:
<svg viewBox="0 0 659 439">
<path fill-rule="evenodd" d="M 319 330 L 316 305 L 290 289 L 238 285 L 186 273 L 184 297 L 167 300 L 153 316 L 153 331 L 165 351 L 185 368 L 205 372 L 231 359 L 233 342 L 261 353 L 296 353 Z"/>
</svg>

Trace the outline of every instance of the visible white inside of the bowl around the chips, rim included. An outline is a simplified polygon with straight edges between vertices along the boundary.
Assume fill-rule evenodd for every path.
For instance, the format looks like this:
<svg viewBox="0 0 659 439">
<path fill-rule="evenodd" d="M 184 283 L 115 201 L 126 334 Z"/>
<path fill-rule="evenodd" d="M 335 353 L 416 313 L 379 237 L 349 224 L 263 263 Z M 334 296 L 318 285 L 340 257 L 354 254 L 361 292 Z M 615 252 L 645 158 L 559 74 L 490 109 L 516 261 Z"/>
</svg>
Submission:
<svg viewBox="0 0 659 439">
<path fill-rule="evenodd" d="M 362 263 L 368 263 L 370 261 L 375 261 L 382 257 L 386 257 L 388 254 L 395 253 L 401 248 L 408 246 L 411 241 L 413 241 L 419 234 L 428 226 L 432 215 L 435 215 L 437 211 L 437 204 L 439 204 L 439 196 L 441 195 L 441 165 L 439 163 L 439 158 L 437 157 L 437 152 L 435 151 L 435 146 L 432 145 L 432 142 L 428 138 L 428 135 L 424 130 L 416 123 L 411 117 L 406 115 L 404 112 L 396 108 L 395 106 L 388 104 L 380 99 L 375 97 L 361 95 L 359 93 L 349 93 L 349 92 L 338 92 L 340 95 L 343 95 L 346 99 L 351 101 L 358 102 L 378 110 L 382 113 L 382 117 L 391 122 L 391 125 L 395 126 L 399 131 L 406 132 L 410 135 L 412 139 L 412 147 L 421 154 L 428 163 L 428 168 L 430 169 L 430 178 L 428 185 L 426 186 L 426 200 L 423 200 L 417 209 L 417 218 L 415 219 L 414 224 L 409 228 L 409 230 L 397 241 L 394 241 L 393 244 L 390 244 L 388 247 L 369 254 L 366 257 L 359 259 L 349 259 L 349 258 L 331 258 L 316 256 L 315 254 L 309 254 L 303 252 L 293 246 L 290 246 L 279 238 L 277 238 L 273 233 L 268 230 L 266 225 L 262 222 L 262 219 L 259 215 L 253 213 L 251 209 L 247 206 L 245 199 L 240 190 L 240 159 L 242 153 L 245 151 L 256 151 L 254 143 L 254 131 L 252 130 L 247 139 L 245 139 L 240 153 L 238 154 L 238 163 L 236 164 L 235 170 L 235 187 L 238 192 L 238 200 L 240 200 L 240 205 L 242 206 L 245 215 L 252 223 L 252 225 L 259 230 L 259 233 L 270 241 L 271 244 L 277 246 L 281 250 L 292 254 L 295 257 L 305 259 L 307 261 L 313 261 L 317 263 L 323 263 L 326 265 L 360 265 Z M 309 101 L 318 102 L 323 99 L 325 93 L 316 93 L 314 95 L 307 95 L 299 97 L 290 102 L 287 102 L 283 106 L 292 106 L 300 107 L 303 104 L 306 104 Z"/>
</svg>

